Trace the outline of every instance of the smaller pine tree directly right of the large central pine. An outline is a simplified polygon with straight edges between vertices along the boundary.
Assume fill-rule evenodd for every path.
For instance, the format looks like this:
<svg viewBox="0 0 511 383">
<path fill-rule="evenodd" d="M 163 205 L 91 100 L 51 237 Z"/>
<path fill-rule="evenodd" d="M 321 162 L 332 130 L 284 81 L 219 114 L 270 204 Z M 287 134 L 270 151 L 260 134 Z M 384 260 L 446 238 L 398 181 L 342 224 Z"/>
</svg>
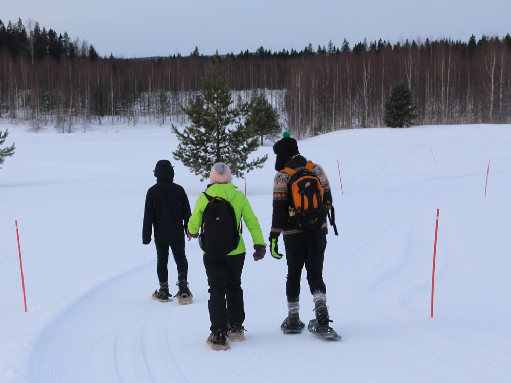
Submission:
<svg viewBox="0 0 511 383">
<path fill-rule="evenodd" d="M 278 112 L 262 92 L 253 95 L 250 100 L 245 125 L 261 138 L 261 145 L 263 145 L 263 138 L 274 140 L 282 133 Z"/>
</svg>

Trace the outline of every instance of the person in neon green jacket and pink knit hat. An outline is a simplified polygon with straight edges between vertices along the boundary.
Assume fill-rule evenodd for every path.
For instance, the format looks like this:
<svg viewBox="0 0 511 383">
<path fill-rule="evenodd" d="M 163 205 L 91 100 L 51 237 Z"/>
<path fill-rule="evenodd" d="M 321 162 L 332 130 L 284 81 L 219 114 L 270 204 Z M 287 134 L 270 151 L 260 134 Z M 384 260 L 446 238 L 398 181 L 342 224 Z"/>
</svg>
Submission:
<svg viewBox="0 0 511 383">
<path fill-rule="evenodd" d="M 252 235 L 254 243 L 254 260 L 263 259 L 266 253 L 266 243 L 261 227 L 247 197 L 231 183 L 233 175 L 229 167 L 222 162 L 216 163 L 210 172 L 210 185 L 197 198 L 192 216 L 188 221 L 188 237 L 197 238 L 202 224 L 204 209 L 210 204 L 211 198 L 225 200 L 230 203 L 236 216 L 236 227 L 240 227 L 241 219 Z M 219 244 L 219 246 L 221 246 Z M 239 244 L 228 254 L 214 250 L 203 254 L 206 269 L 208 292 L 210 299 L 208 308 L 211 322 L 211 335 L 208 342 L 224 346 L 226 338 L 244 340 L 245 310 L 243 290 L 241 288 L 241 273 L 245 262 L 245 243 L 240 234 Z M 220 347 L 219 349 L 221 349 Z"/>
</svg>

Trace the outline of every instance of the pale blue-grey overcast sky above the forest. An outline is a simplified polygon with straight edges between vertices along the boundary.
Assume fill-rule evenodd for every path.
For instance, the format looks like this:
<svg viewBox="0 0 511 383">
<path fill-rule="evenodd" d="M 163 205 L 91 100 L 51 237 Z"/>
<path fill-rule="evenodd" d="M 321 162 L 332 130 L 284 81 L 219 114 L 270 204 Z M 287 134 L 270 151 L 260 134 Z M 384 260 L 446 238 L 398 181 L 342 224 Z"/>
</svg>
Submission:
<svg viewBox="0 0 511 383">
<path fill-rule="evenodd" d="M 211 55 L 511 33 L 511 0 L 2 0 L 19 18 L 86 40 L 100 56 Z"/>
</svg>

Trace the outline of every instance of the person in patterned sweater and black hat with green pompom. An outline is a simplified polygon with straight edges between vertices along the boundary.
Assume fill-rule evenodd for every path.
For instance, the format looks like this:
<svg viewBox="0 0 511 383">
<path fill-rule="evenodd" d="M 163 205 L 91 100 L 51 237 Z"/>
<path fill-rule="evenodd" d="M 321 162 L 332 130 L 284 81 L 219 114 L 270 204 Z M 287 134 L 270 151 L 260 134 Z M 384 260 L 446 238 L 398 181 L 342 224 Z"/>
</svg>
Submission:
<svg viewBox="0 0 511 383">
<path fill-rule="evenodd" d="M 271 255 L 276 259 L 281 259 L 283 255 L 278 252 L 278 237 L 282 233 L 288 266 L 286 282 L 288 316 L 284 319 L 281 329 L 285 333 L 290 333 L 301 332 L 305 326 L 299 318 L 300 280 L 304 266 L 315 304 L 316 319 L 320 325 L 329 323 L 327 289 L 323 281 L 323 262 L 328 230 L 326 220 L 320 228 L 315 230 L 299 229 L 289 221 L 288 184 L 291 176 L 282 170 L 285 167 L 301 169 L 307 164 L 307 159 L 300 155 L 298 144 L 294 138 L 290 137 L 289 132 L 284 132 L 283 137 L 273 146 L 273 151 L 277 156 L 275 170 L 278 173 L 273 181 L 273 214 L 269 240 Z M 312 173 L 319 178 L 323 188 L 323 203 L 330 208 L 332 193 L 326 173 L 318 164 L 314 164 Z"/>
</svg>

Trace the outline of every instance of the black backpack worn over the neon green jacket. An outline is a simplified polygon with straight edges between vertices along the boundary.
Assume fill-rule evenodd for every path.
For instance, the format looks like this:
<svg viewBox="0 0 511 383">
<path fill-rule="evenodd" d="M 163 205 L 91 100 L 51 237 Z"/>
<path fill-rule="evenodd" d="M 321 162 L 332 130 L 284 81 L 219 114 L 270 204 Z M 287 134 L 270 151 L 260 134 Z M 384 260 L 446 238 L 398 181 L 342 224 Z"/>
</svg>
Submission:
<svg viewBox="0 0 511 383">
<path fill-rule="evenodd" d="M 202 214 L 199 246 L 206 254 L 227 255 L 240 243 L 233 206 L 223 198 L 204 194 L 210 202 Z"/>
</svg>

